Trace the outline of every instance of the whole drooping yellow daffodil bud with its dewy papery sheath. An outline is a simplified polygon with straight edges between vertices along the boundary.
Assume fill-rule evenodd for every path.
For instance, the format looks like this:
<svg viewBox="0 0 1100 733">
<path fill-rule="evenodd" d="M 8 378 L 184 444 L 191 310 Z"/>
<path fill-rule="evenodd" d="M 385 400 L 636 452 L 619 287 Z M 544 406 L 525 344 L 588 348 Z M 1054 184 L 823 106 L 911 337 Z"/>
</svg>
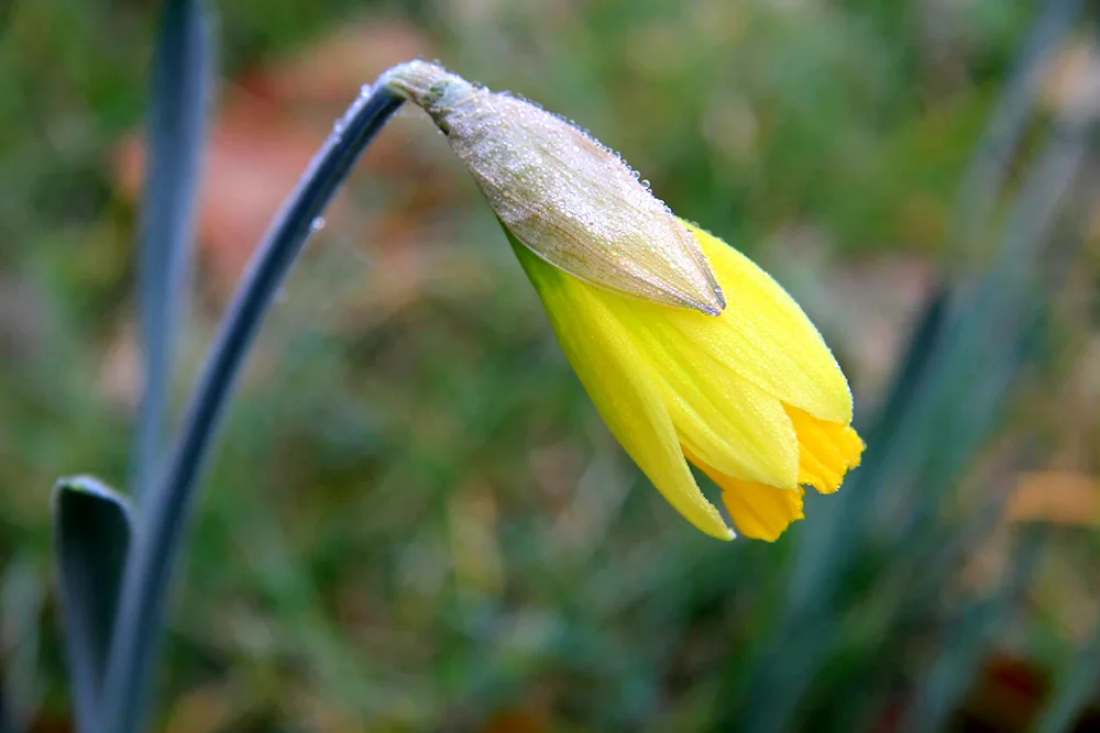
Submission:
<svg viewBox="0 0 1100 733">
<path fill-rule="evenodd" d="M 734 536 L 688 462 L 722 489 L 741 534 L 760 540 L 802 519 L 804 486 L 839 488 L 864 451 L 848 382 L 767 273 L 530 102 L 424 62 L 380 84 L 447 133 L 596 409 L 689 521 Z"/>
</svg>

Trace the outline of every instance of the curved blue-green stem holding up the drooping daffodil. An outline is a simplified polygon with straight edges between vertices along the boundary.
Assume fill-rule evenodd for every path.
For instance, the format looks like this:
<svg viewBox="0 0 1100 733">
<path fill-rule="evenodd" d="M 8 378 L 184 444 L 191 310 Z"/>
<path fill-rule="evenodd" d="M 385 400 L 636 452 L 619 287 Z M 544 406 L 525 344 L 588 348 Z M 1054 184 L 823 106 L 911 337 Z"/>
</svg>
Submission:
<svg viewBox="0 0 1100 733">
<path fill-rule="evenodd" d="M 170 463 L 142 502 L 135 552 L 127 567 L 114 625 L 100 733 L 135 733 L 144 719 L 165 598 L 194 489 L 249 347 L 315 219 L 402 101 L 385 89 L 355 100 L 276 216 L 238 288 L 193 393 Z"/>
</svg>

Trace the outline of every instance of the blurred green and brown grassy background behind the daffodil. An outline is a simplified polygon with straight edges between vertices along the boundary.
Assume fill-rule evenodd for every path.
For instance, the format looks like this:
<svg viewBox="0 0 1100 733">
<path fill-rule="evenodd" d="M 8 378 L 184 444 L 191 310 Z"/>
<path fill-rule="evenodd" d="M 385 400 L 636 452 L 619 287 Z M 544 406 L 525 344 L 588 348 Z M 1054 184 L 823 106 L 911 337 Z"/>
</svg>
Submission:
<svg viewBox="0 0 1100 733">
<path fill-rule="evenodd" d="M 128 473 L 157 4 L 0 4 L 0 676 L 25 730 L 70 725 L 51 486 Z M 251 359 L 156 730 L 1100 730 L 1089 4 L 211 2 L 177 403 L 333 119 L 422 56 L 576 120 L 772 271 L 870 449 L 774 544 L 694 531 L 406 110 Z"/>
</svg>

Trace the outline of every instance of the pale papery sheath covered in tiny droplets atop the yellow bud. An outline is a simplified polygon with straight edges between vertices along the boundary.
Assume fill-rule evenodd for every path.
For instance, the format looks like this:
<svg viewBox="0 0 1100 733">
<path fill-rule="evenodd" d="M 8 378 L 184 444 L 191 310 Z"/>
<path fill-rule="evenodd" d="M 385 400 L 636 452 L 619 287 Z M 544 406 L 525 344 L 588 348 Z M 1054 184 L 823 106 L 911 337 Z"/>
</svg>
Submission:
<svg viewBox="0 0 1100 733">
<path fill-rule="evenodd" d="M 596 286 L 716 315 L 722 289 L 688 229 L 615 153 L 535 104 L 426 62 L 381 84 L 447 134 L 504 225 Z"/>
</svg>

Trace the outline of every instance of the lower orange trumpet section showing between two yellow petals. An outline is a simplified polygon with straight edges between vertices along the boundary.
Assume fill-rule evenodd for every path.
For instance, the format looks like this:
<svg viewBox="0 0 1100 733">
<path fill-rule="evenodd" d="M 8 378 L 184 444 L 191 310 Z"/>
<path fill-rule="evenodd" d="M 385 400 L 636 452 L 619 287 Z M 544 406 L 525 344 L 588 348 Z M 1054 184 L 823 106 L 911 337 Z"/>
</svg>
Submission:
<svg viewBox="0 0 1100 733">
<path fill-rule="evenodd" d="M 747 537 L 774 542 L 802 513 L 802 488 L 777 489 L 757 481 L 743 481 L 714 469 L 688 451 L 688 457 L 722 487 L 722 501 L 737 530 Z"/>
</svg>

